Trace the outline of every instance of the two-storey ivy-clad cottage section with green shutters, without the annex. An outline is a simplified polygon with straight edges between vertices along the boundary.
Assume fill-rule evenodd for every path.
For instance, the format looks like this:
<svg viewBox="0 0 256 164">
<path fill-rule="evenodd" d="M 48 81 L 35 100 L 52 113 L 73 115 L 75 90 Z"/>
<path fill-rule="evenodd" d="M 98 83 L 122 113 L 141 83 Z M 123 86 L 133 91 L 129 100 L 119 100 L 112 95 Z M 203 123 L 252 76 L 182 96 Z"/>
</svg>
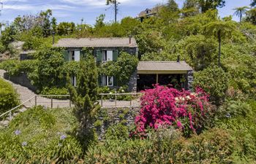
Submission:
<svg viewBox="0 0 256 164">
<path fill-rule="evenodd" d="M 120 52 L 128 52 L 130 55 L 138 56 L 138 45 L 134 38 L 80 38 L 60 39 L 53 47 L 64 47 L 64 58 L 67 61 L 79 61 L 83 48 L 92 48 L 97 63 L 115 61 Z M 76 77 L 72 77 L 73 85 Z M 116 77 L 99 77 L 100 86 L 116 87 Z"/>
</svg>

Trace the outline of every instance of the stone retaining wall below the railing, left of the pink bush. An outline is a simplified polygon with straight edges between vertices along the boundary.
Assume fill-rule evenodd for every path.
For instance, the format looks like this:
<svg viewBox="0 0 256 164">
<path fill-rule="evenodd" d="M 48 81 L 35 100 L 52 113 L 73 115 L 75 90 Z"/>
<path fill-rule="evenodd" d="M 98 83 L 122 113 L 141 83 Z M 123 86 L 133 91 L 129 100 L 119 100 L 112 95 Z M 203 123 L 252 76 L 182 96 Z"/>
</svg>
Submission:
<svg viewBox="0 0 256 164">
<path fill-rule="evenodd" d="M 94 122 L 99 140 L 105 139 L 106 130 L 112 125 L 121 123 L 128 127 L 134 125 L 135 117 L 139 113 L 140 108 L 106 108 L 100 109 L 97 120 Z"/>
</svg>

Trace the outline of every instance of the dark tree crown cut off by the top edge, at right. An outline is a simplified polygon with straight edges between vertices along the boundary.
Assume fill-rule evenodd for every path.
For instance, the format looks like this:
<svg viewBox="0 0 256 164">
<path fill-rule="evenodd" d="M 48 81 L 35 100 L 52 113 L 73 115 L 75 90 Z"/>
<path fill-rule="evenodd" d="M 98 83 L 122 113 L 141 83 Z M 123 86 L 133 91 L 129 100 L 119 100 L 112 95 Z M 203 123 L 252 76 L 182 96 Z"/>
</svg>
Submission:
<svg viewBox="0 0 256 164">
<path fill-rule="evenodd" d="M 217 9 L 217 7 L 225 7 L 225 0 L 197 0 L 201 12 L 206 12 L 208 9 Z"/>
</svg>

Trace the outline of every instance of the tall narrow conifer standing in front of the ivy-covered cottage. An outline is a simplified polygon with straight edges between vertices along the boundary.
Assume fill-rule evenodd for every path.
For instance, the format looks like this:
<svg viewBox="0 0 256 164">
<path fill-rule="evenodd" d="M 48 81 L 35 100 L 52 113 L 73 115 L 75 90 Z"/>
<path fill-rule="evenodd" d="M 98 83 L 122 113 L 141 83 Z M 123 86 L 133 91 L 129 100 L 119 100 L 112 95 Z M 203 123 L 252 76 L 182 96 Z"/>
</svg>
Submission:
<svg viewBox="0 0 256 164">
<path fill-rule="evenodd" d="M 97 66 L 91 55 L 87 55 L 86 60 L 80 61 L 76 78 L 77 87 L 73 87 L 69 82 L 68 88 L 80 122 L 78 135 L 83 144 L 88 146 L 89 141 L 94 138 L 91 126 L 93 113 L 98 107 L 95 104 L 98 94 Z"/>
</svg>

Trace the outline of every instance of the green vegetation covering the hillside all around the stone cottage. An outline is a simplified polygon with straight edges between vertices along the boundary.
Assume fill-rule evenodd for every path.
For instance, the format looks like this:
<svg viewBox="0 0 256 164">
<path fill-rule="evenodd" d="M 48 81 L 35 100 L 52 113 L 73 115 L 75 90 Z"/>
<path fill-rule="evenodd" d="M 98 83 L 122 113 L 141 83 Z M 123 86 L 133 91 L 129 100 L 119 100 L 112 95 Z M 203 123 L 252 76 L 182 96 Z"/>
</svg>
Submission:
<svg viewBox="0 0 256 164">
<path fill-rule="evenodd" d="M 148 17 L 143 22 L 124 17 L 120 22 L 106 23 L 105 15 L 99 15 L 94 26 L 57 24 L 50 10 L 17 17 L 1 36 L 1 52 L 12 52 L 10 43 L 13 41 L 23 41 L 23 50 L 37 52 L 33 60 L 6 60 L 0 68 L 10 75 L 26 72 L 39 92 L 52 92 L 52 89 L 64 93 L 69 89 L 78 125 L 72 130 L 74 133 L 54 139 L 52 136 L 56 132 L 52 128 L 59 127 L 61 118 L 54 117 L 51 111 L 42 107 L 29 110 L 13 120 L 9 128 L 1 130 L 0 140 L 4 144 L 0 145 L 0 159 L 27 163 L 255 163 L 254 6 L 255 1 L 252 1 L 252 8 L 241 7 L 234 11 L 239 19 L 241 17 L 241 22 L 233 21 L 232 16 L 219 17 L 217 7 L 225 7 L 223 0 L 186 0 L 181 9 L 176 1 L 170 0 L 155 17 Z M 98 109 L 94 101 L 99 90 L 110 91 L 98 88 L 97 74 L 115 75 L 120 83 L 125 83 L 138 59 L 123 52 L 117 61 L 97 66 L 89 55 L 90 50 L 84 50 L 87 60 L 65 62 L 61 50 L 51 46 L 52 31 L 57 40 L 62 37 L 132 35 L 138 43 L 139 60 L 176 60 L 180 55 L 181 60 L 186 60 L 195 70 L 195 88 L 201 87 L 209 97 L 203 94 L 193 97 L 193 101 L 182 101 L 190 93 L 174 92 L 166 87 L 161 87 L 161 92 L 159 87 L 147 90 L 156 94 L 142 99 L 142 110 L 136 123 L 137 128 L 143 127 L 143 136 L 132 135 L 136 127 L 127 128 L 120 121 L 107 130 L 105 141 L 97 141 L 91 126 Z M 67 77 L 73 74 L 78 74 L 76 88 L 67 82 Z M 166 101 L 172 103 L 162 108 Z M 179 110 L 185 116 L 178 117 L 175 112 L 170 113 L 171 110 Z M 165 126 L 158 126 L 159 122 Z M 60 124 L 61 127 L 69 127 L 69 122 L 64 124 Z M 44 135 L 33 137 L 35 134 L 29 130 L 33 125 L 45 132 Z M 44 143 L 41 141 L 45 138 L 50 138 L 45 147 L 37 147 L 37 143 Z M 65 148 L 61 149 L 62 146 Z M 13 147 L 17 152 L 12 152 Z"/>
</svg>

